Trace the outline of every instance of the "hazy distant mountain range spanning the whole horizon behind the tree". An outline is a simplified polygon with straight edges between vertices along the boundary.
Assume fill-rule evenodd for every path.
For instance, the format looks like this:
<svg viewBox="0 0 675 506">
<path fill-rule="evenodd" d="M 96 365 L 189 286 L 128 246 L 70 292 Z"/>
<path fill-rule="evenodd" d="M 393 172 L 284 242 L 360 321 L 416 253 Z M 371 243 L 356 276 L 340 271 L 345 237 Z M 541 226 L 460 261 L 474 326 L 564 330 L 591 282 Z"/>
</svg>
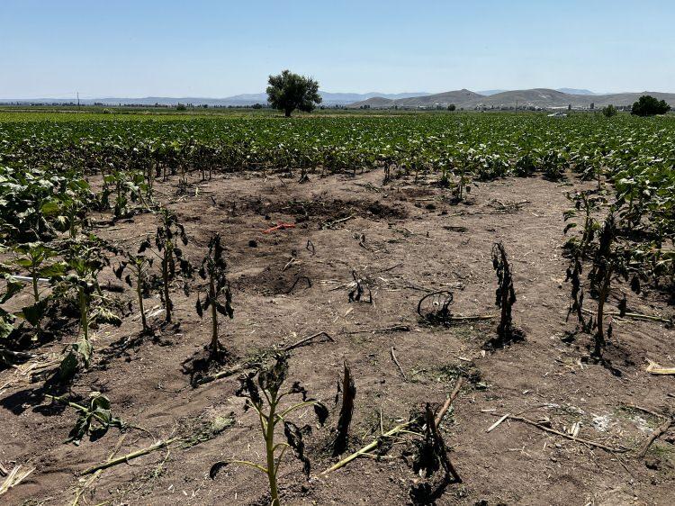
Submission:
<svg viewBox="0 0 675 506">
<path fill-rule="evenodd" d="M 590 104 L 596 107 L 602 107 L 608 104 L 617 106 L 626 106 L 633 104 L 641 95 L 653 95 L 659 100 L 665 100 L 675 108 L 675 94 L 660 92 L 640 92 L 640 93 L 617 93 L 617 94 L 596 94 L 587 89 L 577 88 L 559 88 L 557 90 L 547 88 L 534 88 L 527 90 L 483 90 L 473 92 L 467 89 L 448 91 L 444 93 L 429 94 L 425 92 L 418 93 L 399 93 L 383 94 L 377 92 L 358 94 L 358 93 L 329 93 L 320 92 L 323 98 L 322 105 L 326 106 L 344 106 L 348 108 L 359 108 L 370 106 L 373 109 L 387 109 L 393 107 L 401 108 L 436 108 L 455 104 L 458 109 L 500 109 L 511 107 L 536 107 L 542 109 L 565 108 L 572 105 L 573 108 L 589 108 Z M 19 103 L 19 104 L 72 104 L 75 99 L 68 98 L 33 98 L 33 99 L 0 99 L 0 104 Z M 265 93 L 233 95 L 225 98 L 208 97 L 166 97 L 166 96 L 146 96 L 143 98 L 130 97 L 105 97 L 88 98 L 80 100 L 81 104 L 105 104 L 105 105 L 211 105 L 211 106 L 247 106 L 254 104 L 266 104 L 267 95 Z"/>
</svg>

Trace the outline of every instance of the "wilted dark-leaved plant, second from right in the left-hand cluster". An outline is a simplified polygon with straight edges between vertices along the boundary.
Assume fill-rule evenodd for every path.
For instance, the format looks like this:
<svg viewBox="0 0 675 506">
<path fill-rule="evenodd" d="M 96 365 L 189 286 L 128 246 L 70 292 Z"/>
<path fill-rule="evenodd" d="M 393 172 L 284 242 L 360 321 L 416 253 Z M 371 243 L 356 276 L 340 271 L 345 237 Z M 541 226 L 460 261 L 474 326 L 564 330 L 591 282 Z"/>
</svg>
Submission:
<svg viewBox="0 0 675 506">
<path fill-rule="evenodd" d="M 162 291 L 160 295 L 166 309 L 166 323 L 170 323 L 174 309 L 174 303 L 171 302 L 171 285 L 178 278 L 178 274 L 181 274 L 183 290 L 187 295 L 189 290 L 185 279 L 192 276 L 193 267 L 184 258 L 183 250 L 179 248 L 179 241 L 187 246 L 187 235 L 183 225 L 180 224 L 175 213 L 165 207 L 160 208 L 159 215 L 161 224 L 157 227 L 155 234 L 155 247 L 161 265 Z"/>
</svg>

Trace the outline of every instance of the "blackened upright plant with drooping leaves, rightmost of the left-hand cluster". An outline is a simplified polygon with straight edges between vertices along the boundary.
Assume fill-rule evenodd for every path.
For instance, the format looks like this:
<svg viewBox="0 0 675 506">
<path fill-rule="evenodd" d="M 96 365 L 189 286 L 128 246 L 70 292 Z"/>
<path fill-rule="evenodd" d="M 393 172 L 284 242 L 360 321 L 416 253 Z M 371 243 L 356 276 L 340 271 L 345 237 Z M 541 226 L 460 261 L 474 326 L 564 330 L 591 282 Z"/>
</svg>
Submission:
<svg viewBox="0 0 675 506">
<path fill-rule="evenodd" d="M 197 314 L 203 317 L 203 312 L 211 308 L 211 345 L 209 346 L 211 360 L 219 361 L 221 358 L 222 346 L 218 340 L 218 313 L 228 316 L 231 320 L 234 316 L 232 309 L 232 294 L 229 291 L 226 270 L 227 263 L 223 256 L 224 250 L 220 244 L 220 234 L 214 234 L 209 241 L 209 252 L 202 259 L 202 267 L 199 269 L 199 276 L 208 281 L 208 291 L 206 297 L 202 300 L 197 295 L 195 304 Z M 224 298 L 224 303 L 220 303 L 220 298 Z"/>
</svg>

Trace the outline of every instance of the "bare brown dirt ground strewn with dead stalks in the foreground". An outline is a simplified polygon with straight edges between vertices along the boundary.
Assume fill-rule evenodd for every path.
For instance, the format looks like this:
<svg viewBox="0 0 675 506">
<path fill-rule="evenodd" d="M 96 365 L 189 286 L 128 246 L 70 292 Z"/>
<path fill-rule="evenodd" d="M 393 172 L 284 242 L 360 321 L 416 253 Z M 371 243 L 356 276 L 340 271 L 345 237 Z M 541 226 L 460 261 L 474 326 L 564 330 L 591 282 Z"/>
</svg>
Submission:
<svg viewBox="0 0 675 506">
<path fill-rule="evenodd" d="M 648 467 L 642 459 L 518 421 L 506 420 L 486 432 L 496 415 L 511 413 L 530 420 L 546 417 L 558 430 L 579 422 L 581 438 L 636 447 L 659 420 L 626 406 L 674 409 L 673 377 L 644 370 L 647 358 L 675 361 L 673 330 L 653 321 L 616 320 L 607 354 L 620 376 L 581 361 L 589 336 L 561 340 L 572 328 L 565 322 L 570 289 L 561 248 L 563 210 L 569 207 L 564 193 L 570 187 L 538 178 L 506 179 L 473 188 L 473 205 L 450 205 L 441 188 L 381 182 L 377 173 L 314 176 L 302 185 L 276 176 L 225 175 L 193 180 L 196 196 L 176 195 L 170 184 L 157 186 L 185 225 L 191 238 L 185 254 L 195 263 L 211 233 L 223 238 L 235 317 L 222 322 L 220 340 L 232 357 L 252 357 L 328 332 L 336 342 L 293 350 L 290 377 L 329 404 L 331 427 L 338 411 L 332 404 L 335 385 L 344 360 L 349 361 L 357 389 L 353 449 L 377 437 L 380 412 L 385 429 L 392 427 L 425 402 L 444 402 L 457 375 L 467 375 L 471 381 L 442 428 L 464 483 L 448 486 L 438 504 L 671 503 L 675 450 L 667 438 L 650 450 Z M 279 222 L 295 227 L 263 233 Z M 139 214 L 98 231 L 136 248 L 156 226 L 152 215 Z M 512 263 L 518 294 L 514 322 L 527 339 L 491 354 L 482 348 L 496 321 L 428 325 L 419 321 L 416 309 L 429 291 L 449 290 L 455 313 L 497 313 L 495 241 L 504 243 Z M 348 301 L 353 271 L 364 279 L 373 304 Z M 85 492 L 88 503 L 266 503 L 266 481 L 254 470 L 231 466 L 214 481 L 208 476 L 211 464 L 222 458 L 262 463 L 263 446 L 254 413 L 244 412 L 234 396 L 236 375 L 192 388 L 181 370 L 210 337 L 208 318 L 202 321 L 194 312 L 198 288 L 194 281 L 192 296 L 175 294 L 175 326 L 161 325 L 158 299 L 147 301 L 154 314 L 153 338 L 139 336 L 133 316 L 119 329 L 97 330 L 94 362 L 70 394 L 85 399 L 94 390 L 103 392 L 115 416 L 150 432 L 130 430 L 118 455 L 176 434 L 208 438 L 105 470 Z M 635 312 L 671 311 L 649 298 L 631 303 Z M 57 354 L 63 346 L 49 343 L 40 352 Z M 405 379 L 392 361 L 392 347 Z M 77 474 L 110 456 L 118 434 L 111 429 L 79 447 L 64 444 L 75 412 L 52 406 L 40 394 L 40 384 L 27 377 L 0 372 L 0 463 L 35 467 L 3 499 L 8 504 L 72 501 L 82 484 Z M 230 413 L 233 425 L 212 429 Z M 285 503 L 410 501 L 419 476 L 398 457 L 357 459 L 316 477 L 335 462 L 323 451 L 328 429 L 322 430 L 307 440 L 315 476 L 309 482 L 302 466 L 284 457 L 279 482 Z M 391 456 L 399 454 L 392 450 Z"/>
</svg>

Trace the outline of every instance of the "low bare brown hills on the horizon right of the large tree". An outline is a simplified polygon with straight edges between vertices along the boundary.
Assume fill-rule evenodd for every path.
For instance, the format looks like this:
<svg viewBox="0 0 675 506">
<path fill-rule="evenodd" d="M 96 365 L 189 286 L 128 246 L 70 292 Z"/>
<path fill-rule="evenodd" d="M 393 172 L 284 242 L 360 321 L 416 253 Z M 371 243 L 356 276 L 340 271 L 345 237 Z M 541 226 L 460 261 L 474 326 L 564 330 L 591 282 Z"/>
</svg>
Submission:
<svg viewBox="0 0 675 506">
<path fill-rule="evenodd" d="M 561 91 L 566 90 L 566 91 Z M 535 107 L 542 109 L 558 109 L 572 105 L 572 108 L 590 108 L 593 104 L 602 107 L 609 104 L 626 106 L 633 104 L 641 95 L 653 95 L 659 100 L 665 100 L 675 107 L 675 94 L 649 92 L 616 93 L 608 95 L 594 94 L 589 90 L 561 88 L 553 90 L 534 88 L 529 90 L 500 91 L 491 90 L 482 93 L 462 89 L 435 95 L 423 95 L 401 99 L 389 99 L 383 96 L 374 96 L 366 100 L 347 105 L 357 109 L 369 106 L 372 109 L 401 108 L 445 108 L 454 104 L 458 109 L 500 109 L 510 107 Z"/>
</svg>

